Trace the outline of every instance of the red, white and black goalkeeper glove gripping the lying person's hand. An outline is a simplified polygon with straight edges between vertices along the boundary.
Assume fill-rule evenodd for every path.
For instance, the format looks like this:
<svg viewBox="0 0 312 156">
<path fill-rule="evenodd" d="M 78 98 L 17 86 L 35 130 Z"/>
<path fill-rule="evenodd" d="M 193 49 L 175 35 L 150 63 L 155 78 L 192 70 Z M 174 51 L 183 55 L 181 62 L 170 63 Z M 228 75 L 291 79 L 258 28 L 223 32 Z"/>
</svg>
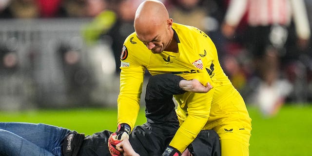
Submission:
<svg viewBox="0 0 312 156">
<path fill-rule="evenodd" d="M 121 152 L 116 149 L 116 145 L 123 139 L 129 139 L 131 128 L 126 123 L 118 125 L 117 131 L 108 138 L 108 149 L 112 156 L 121 156 Z"/>
</svg>

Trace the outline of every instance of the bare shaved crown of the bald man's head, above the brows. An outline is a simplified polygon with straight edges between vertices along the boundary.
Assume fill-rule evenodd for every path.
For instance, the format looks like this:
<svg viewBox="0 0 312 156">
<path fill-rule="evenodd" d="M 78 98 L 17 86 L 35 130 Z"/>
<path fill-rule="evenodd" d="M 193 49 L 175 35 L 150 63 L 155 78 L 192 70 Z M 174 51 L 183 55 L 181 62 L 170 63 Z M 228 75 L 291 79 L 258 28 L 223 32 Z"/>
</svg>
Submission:
<svg viewBox="0 0 312 156">
<path fill-rule="evenodd" d="M 136 11 L 134 26 L 136 31 L 144 26 L 158 26 L 169 20 L 169 14 L 165 5 L 157 0 L 146 0 L 142 2 Z M 151 28 L 151 27 L 148 27 Z"/>
</svg>

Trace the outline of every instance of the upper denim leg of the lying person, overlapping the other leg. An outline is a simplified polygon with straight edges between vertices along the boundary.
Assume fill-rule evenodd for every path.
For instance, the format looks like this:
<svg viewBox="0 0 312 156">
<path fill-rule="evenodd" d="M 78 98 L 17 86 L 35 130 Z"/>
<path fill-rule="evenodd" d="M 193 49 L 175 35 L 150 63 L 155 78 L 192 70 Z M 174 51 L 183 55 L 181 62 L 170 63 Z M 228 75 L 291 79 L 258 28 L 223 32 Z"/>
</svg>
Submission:
<svg viewBox="0 0 312 156">
<path fill-rule="evenodd" d="M 23 140 L 27 140 L 55 156 L 61 156 L 61 143 L 66 135 L 71 132 L 61 127 L 21 122 L 0 122 L 0 129 L 22 137 Z"/>
</svg>

